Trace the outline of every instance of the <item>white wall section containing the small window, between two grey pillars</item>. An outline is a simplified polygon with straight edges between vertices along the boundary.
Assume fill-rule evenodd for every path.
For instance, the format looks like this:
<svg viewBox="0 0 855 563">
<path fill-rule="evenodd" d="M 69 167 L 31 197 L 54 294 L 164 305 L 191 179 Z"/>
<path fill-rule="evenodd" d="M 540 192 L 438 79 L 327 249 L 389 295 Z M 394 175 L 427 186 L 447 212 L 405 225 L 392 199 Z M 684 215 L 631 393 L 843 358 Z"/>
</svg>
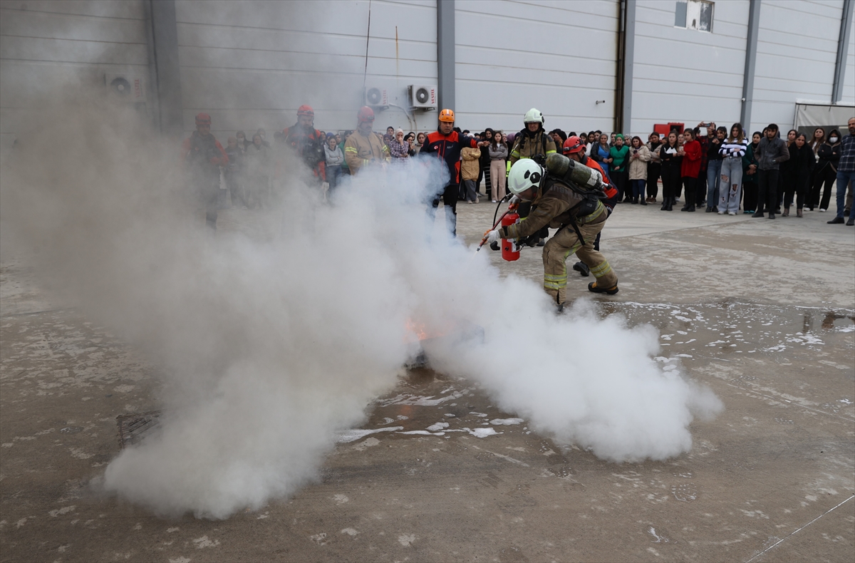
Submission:
<svg viewBox="0 0 855 563">
<path fill-rule="evenodd" d="M 632 123 L 624 128 L 646 139 L 656 123 L 740 121 L 748 6 L 748 0 L 719 0 L 706 33 L 674 27 L 674 0 L 639 0 Z"/>
</svg>

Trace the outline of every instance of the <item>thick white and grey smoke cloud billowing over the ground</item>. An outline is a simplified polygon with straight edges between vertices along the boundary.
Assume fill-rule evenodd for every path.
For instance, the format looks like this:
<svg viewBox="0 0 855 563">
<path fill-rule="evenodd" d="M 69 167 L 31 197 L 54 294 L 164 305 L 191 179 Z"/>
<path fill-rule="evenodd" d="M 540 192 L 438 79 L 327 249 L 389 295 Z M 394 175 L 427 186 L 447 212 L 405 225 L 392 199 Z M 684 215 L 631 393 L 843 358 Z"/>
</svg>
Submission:
<svg viewBox="0 0 855 563">
<path fill-rule="evenodd" d="M 38 246 L 45 282 L 165 374 L 162 431 L 103 479 L 155 513 L 223 519 L 315 477 L 335 433 L 416 352 L 413 321 L 483 327 L 483 341 L 436 342 L 432 363 L 603 459 L 686 452 L 693 417 L 721 408 L 651 359 L 651 327 L 585 303 L 557 317 L 539 283 L 428 236 L 423 200 L 447 174 L 434 159 L 360 175 L 332 207 L 286 179 L 250 234 L 211 237 L 181 195 L 174 147 L 119 110 L 62 116 L 47 112 L 51 134 L 4 166 L 3 242 Z"/>
</svg>

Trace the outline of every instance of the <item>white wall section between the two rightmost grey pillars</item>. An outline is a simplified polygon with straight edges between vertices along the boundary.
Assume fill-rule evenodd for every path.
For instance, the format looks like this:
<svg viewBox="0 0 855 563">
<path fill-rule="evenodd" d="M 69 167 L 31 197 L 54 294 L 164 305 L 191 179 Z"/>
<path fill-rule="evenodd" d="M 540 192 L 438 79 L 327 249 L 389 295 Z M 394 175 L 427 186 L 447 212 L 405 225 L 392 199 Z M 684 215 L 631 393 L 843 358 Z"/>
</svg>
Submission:
<svg viewBox="0 0 855 563">
<path fill-rule="evenodd" d="M 777 123 L 786 132 L 799 98 L 831 103 L 842 12 L 843 0 L 763 0 L 752 131 Z"/>
</svg>

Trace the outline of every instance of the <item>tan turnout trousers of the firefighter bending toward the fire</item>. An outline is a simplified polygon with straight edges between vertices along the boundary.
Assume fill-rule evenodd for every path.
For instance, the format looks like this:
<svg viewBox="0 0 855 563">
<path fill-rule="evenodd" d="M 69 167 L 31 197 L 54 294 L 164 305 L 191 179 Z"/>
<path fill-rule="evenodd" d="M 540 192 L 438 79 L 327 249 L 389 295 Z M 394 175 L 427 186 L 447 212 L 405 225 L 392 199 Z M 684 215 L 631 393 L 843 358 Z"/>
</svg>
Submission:
<svg viewBox="0 0 855 563">
<path fill-rule="evenodd" d="M 579 231 L 585 239 L 579 240 L 572 225 L 563 227 L 546 242 L 543 247 L 543 288 L 556 303 L 561 304 L 567 295 L 567 258 L 575 253 L 587 264 L 591 273 L 597 278 L 598 287 L 614 287 L 617 284 L 615 270 L 611 269 L 608 260 L 593 249 L 597 234 L 603 230 L 608 217 L 603 204 L 597 206 L 591 215 L 576 220 Z"/>
</svg>

